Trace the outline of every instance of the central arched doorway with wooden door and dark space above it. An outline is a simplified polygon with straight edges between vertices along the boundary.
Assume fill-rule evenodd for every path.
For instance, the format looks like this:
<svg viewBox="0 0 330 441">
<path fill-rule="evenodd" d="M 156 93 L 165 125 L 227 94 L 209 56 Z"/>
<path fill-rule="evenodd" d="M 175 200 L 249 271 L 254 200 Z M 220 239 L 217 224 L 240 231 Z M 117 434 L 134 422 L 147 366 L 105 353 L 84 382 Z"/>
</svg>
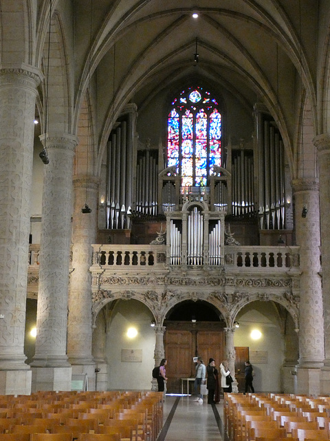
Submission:
<svg viewBox="0 0 330 441">
<path fill-rule="evenodd" d="M 181 378 L 195 377 L 194 357 L 200 356 L 205 365 L 212 357 L 219 367 L 225 350 L 225 320 L 208 302 L 187 300 L 168 312 L 164 326 L 167 392 L 180 393 Z"/>
</svg>

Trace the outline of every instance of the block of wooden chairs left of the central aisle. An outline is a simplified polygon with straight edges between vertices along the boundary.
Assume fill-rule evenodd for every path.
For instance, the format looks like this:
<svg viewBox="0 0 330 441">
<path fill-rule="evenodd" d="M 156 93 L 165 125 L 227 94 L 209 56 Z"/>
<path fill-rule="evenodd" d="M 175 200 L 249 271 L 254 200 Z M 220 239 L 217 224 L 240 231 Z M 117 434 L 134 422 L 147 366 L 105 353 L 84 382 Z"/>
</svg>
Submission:
<svg viewBox="0 0 330 441">
<path fill-rule="evenodd" d="M 153 391 L 0 396 L 0 441 L 155 441 L 162 399 Z"/>
</svg>

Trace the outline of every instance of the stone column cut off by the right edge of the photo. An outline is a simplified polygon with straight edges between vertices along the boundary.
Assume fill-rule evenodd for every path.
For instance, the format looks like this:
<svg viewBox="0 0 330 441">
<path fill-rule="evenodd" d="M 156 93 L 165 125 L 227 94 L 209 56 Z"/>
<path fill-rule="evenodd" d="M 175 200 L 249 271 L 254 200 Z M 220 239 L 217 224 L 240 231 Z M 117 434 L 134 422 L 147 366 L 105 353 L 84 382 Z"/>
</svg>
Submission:
<svg viewBox="0 0 330 441">
<path fill-rule="evenodd" d="M 320 222 L 322 250 L 322 289 L 325 314 L 325 365 L 321 373 L 321 393 L 330 393 L 330 134 L 314 139 L 320 173 Z"/>
</svg>

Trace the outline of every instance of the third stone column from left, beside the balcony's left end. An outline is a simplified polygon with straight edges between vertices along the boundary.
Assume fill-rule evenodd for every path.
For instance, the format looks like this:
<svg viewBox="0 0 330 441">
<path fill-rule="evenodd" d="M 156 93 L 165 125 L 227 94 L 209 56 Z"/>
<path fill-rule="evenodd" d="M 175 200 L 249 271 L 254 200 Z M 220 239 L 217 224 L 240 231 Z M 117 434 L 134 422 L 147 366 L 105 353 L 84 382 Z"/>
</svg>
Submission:
<svg viewBox="0 0 330 441">
<path fill-rule="evenodd" d="M 85 203 L 91 213 L 83 213 Z M 72 273 L 69 289 L 67 355 L 72 373 L 87 373 L 88 389 L 95 390 L 95 362 L 91 354 L 91 260 L 96 243 L 98 219 L 98 179 L 74 178 L 74 216 L 72 232 Z"/>
</svg>

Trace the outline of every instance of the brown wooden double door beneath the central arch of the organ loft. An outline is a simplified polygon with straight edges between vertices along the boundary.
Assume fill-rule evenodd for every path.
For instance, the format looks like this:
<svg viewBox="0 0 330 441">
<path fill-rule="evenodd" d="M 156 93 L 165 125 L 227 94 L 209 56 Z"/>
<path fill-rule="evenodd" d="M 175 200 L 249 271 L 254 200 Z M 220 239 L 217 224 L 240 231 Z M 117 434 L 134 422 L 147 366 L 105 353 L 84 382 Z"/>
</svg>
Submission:
<svg viewBox="0 0 330 441">
<path fill-rule="evenodd" d="M 210 322 L 166 324 L 164 350 L 167 359 L 167 391 L 181 393 L 181 378 L 195 378 L 195 356 L 201 357 L 205 365 L 209 358 L 214 358 L 219 369 L 224 351 L 223 327 L 217 322 L 211 322 L 211 325 Z"/>
</svg>

